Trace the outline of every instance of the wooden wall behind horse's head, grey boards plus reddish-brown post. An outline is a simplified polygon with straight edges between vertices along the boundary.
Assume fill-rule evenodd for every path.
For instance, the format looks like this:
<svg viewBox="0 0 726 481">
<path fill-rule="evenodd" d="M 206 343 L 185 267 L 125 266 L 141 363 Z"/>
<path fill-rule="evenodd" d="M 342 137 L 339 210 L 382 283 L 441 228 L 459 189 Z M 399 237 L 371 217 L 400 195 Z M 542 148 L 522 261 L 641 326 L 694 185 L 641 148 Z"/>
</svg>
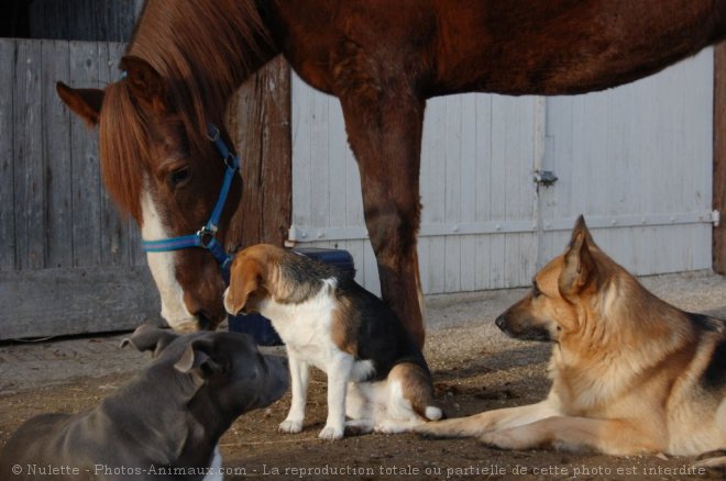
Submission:
<svg viewBox="0 0 726 481">
<path fill-rule="evenodd" d="M 57 80 L 97 88 L 118 80 L 123 49 L 0 38 L 0 340 L 162 322 L 135 222 L 117 214 L 103 188 L 97 132 L 55 92 Z M 292 209 L 285 61 L 243 86 L 228 126 L 245 176 L 238 230 L 246 244 L 282 245 Z"/>
</svg>

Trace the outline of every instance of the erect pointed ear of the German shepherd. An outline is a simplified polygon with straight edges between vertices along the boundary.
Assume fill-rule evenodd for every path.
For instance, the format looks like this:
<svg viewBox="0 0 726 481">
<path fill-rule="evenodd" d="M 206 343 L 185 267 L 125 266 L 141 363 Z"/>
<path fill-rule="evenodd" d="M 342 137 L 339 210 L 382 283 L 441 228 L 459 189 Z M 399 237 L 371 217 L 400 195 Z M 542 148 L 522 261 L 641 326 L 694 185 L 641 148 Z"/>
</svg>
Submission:
<svg viewBox="0 0 726 481">
<path fill-rule="evenodd" d="M 570 246 L 564 253 L 564 265 L 558 279 L 558 288 L 563 297 L 576 295 L 596 275 L 597 266 L 592 248 L 596 248 L 595 243 L 581 215 L 572 230 Z"/>
</svg>

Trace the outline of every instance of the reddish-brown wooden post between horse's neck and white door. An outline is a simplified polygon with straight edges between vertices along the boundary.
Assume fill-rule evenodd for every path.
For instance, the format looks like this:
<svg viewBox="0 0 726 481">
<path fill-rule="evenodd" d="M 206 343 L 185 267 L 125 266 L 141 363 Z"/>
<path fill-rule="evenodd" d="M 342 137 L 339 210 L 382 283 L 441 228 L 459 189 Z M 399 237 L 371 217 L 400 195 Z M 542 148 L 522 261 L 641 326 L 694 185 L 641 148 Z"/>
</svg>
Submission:
<svg viewBox="0 0 726 481">
<path fill-rule="evenodd" d="M 283 245 L 293 209 L 289 66 L 275 58 L 235 98 L 228 125 L 240 147 L 244 190 L 235 215 L 242 232 L 234 237 L 242 245 Z"/>
</svg>

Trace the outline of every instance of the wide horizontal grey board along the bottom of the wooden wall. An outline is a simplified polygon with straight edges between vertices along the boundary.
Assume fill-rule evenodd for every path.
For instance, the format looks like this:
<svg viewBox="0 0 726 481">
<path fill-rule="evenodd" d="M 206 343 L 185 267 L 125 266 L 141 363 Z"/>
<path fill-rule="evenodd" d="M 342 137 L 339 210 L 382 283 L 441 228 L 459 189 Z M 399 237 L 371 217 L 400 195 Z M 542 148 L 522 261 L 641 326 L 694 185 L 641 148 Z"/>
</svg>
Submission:
<svg viewBox="0 0 726 481">
<path fill-rule="evenodd" d="M 162 323 L 148 269 L 0 272 L 0 340 L 125 331 Z"/>
</svg>

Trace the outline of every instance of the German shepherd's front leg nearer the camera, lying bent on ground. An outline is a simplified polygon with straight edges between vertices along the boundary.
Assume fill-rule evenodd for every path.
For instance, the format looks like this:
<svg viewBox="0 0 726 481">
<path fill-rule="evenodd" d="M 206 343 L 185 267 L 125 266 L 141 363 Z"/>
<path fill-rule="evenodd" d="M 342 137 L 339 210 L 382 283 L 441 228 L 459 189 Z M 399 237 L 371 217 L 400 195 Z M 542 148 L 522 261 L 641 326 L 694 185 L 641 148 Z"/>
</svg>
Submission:
<svg viewBox="0 0 726 481">
<path fill-rule="evenodd" d="M 552 447 L 568 451 L 595 450 L 613 456 L 658 452 L 666 436 L 637 430 L 623 420 L 553 416 L 535 423 L 492 430 L 479 440 L 498 449 L 526 450 Z"/>
</svg>

